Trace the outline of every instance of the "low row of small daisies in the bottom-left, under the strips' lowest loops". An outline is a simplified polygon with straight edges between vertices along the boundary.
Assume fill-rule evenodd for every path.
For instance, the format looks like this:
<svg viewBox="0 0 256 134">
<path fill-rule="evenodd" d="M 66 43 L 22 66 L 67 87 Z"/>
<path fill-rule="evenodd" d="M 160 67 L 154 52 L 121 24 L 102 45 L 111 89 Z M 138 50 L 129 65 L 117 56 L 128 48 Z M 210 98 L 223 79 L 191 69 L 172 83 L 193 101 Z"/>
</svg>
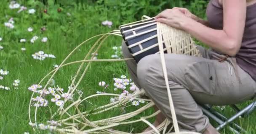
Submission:
<svg viewBox="0 0 256 134">
<path fill-rule="evenodd" d="M 47 121 L 47 124 L 35 124 L 35 123 L 32 123 L 32 122 L 29 122 L 29 125 L 32 126 L 32 127 L 36 127 L 38 129 L 41 129 L 41 130 L 55 130 L 57 126 L 61 126 L 60 123 L 58 123 L 57 121 Z"/>
</svg>

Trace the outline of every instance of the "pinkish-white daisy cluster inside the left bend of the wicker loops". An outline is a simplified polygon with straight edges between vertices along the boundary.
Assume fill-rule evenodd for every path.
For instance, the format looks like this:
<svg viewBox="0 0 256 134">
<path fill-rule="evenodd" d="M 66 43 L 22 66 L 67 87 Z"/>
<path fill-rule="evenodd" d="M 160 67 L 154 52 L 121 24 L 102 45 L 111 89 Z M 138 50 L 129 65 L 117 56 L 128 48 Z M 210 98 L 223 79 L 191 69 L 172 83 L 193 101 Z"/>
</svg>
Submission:
<svg viewBox="0 0 256 134">
<path fill-rule="evenodd" d="M 56 106 L 62 106 L 64 104 L 64 100 L 72 100 L 72 94 L 70 93 L 64 93 L 63 88 L 51 88 L 48 89 L 41 89 L 42 85 L 31 85 L 28 90 L 38 93 L 39 96 L 32 98 L 32 101 L 34 102 L 32 106 L 35 107 L 45 107 L 48 106 L 48 100 L 46 100 L 46 97 L 49 96 L 51 98 L 51 102 L 55 103 Z M 40 97 L 41 96 L 41 97 Z M 61 100 L 62 99 L 62 100 Z M 37 103 L 39 102 L 39 103 Z"/>
</svg>

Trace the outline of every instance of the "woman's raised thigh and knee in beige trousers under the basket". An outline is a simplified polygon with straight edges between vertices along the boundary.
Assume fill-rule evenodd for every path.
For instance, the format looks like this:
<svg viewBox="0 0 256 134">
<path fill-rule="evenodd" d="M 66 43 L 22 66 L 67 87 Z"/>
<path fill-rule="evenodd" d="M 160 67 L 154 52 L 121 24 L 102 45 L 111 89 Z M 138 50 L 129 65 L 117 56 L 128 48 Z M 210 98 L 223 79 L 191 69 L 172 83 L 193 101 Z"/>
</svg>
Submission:
<svg viewBox="0 0 256 134">
<path fill-rule="evenodd" d="M 198 103 L 227 105 L 244 101 L 254 94 L 255 84 L 252 84 L 251 77 L 238 68 L 242 76 L 238 80 L 235 69 L 230 69 L 232 66 L 228 61 L 165 54 L 165 62 L 168 79 L 184 86 Z M 148 70 L 148 76 L 155 77 L 158 85 L 165 85 L 159 54 L 144 57 L 139 64 Z"/>
</svg>

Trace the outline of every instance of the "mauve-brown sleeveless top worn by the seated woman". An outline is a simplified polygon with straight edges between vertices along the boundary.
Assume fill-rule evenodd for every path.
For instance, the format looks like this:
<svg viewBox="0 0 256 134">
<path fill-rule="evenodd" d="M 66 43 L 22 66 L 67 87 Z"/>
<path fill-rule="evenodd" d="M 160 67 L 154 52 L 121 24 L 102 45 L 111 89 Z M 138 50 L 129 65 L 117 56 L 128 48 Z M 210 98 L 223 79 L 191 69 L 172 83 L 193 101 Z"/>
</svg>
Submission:
<svg viewBox="0 0 256 134">
<path fill-rule="evenodd" d="M 211 28 L 223 29 L 223 8 L 219 0 L 210 0 L 206 15 Z M 247 6 L 242 45 L 235 58 L 237 64 L 256 81 L 256 3 Z"/>
</svg>

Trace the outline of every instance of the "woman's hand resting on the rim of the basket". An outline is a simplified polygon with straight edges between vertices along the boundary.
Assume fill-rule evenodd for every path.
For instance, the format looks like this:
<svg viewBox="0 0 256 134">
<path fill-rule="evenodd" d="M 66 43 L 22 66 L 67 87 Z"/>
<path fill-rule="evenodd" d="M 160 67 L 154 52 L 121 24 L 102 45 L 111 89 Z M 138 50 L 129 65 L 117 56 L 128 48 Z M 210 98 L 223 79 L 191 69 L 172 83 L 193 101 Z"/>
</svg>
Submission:
<svg viewBox="0 0 256 134">
<path fill-rule="evenodd" d="M 166 9 L 163 12 L 155 16 L 155 20 L 160 23 L 165 23 L 168 26 L 182 29 L 185 23 L 193 21 L 192 18 L 187 17 L 180 10 Z"/>
</svg>

